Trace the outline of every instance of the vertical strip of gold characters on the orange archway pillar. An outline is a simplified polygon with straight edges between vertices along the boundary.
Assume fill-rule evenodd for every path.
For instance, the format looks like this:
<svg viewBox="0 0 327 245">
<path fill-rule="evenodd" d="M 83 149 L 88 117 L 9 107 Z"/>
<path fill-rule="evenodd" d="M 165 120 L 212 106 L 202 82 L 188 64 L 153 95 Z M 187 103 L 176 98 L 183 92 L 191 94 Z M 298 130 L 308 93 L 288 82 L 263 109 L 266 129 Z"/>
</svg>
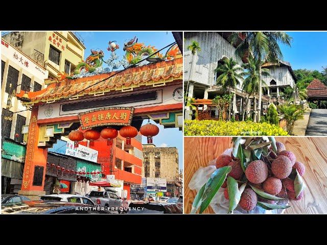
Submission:
<svg viewBox="0 0 327 245">
<path fill-rule="evenodd" d="M 26 150 L 26 160 L 25 160 L 25 170 L 23 179 L 23 185 L 25 188 L 28 187 L 30 183 L 30 171 L 32 166 L 32 158 L 34 153 L 34 143 L 35 143 L 35 131 L 36 131 L 36 116 L 34 115 L 30 122 L 29 127 L 29 139 L 27 143 L 27 150 Z"/>
</svg>

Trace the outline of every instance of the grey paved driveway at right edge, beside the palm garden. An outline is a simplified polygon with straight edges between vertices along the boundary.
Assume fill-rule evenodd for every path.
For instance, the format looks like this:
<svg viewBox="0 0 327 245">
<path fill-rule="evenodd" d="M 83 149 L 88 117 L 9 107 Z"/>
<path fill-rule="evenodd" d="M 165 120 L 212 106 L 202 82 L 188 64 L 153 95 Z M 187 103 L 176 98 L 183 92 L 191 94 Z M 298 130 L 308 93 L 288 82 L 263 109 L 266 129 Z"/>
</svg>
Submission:
<svg viewBox="0 0 327 245">
<path fill-rule="evenodd" d="M 327 109 L 312 109 L 306 135 L 327 135 Z"/>
</svg>

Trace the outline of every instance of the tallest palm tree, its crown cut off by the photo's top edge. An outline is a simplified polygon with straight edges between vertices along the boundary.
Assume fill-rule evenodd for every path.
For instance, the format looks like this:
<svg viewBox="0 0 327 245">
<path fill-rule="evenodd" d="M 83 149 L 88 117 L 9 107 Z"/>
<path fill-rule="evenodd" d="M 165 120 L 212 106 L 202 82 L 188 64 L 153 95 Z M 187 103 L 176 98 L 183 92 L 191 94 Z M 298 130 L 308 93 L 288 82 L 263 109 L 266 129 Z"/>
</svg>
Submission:
<svg viewBox="0 0 327 245">
<path fill-rule="evenodd" d="M 285 32 L 234 32 L 229 36 L 232 44 L 239 42 L 235 54 L 244 58 L 251 54 L 258 62 L 278 63 L 283 58 L 279 43 L 291 46 L 292 38 Z M 258 121 L 261 118 L 262 101 L 262 69 L 259 67 L 259 107 Z"/>
</svg>

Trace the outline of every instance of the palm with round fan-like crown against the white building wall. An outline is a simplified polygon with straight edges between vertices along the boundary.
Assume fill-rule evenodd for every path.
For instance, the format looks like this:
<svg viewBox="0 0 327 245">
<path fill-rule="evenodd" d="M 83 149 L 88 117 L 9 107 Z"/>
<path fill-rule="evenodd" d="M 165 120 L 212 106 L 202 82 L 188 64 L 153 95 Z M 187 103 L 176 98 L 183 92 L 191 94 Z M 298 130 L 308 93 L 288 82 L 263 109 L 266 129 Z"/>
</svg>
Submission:
<svg viewBox="0 0 327 245">
<path fill-rule="evenodd" d="M 223 63 L 219 63 L 216 70 L 218 74 L 216 83 L 222 85 L 224 89 L 227 87 L 236 88 L 240 85 L 240 81 L 243 80 L 244 70 L 243 68 L 235 61 L 233 58 L 227 59 L 223 58 Z M 230 102 L 229 102 L 229 115 L 228 120 L 230 119 Z"/>
</svg>

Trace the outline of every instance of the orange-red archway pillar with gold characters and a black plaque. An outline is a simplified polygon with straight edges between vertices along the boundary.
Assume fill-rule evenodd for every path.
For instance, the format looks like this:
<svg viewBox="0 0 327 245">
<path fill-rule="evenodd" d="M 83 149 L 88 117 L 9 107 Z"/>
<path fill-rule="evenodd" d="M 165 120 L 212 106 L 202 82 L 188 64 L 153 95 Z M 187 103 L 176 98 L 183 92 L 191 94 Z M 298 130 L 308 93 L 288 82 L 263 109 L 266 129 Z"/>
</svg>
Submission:
<svg viewBox="0 0 327 245">
<path fill-rule="evenodd" d="M 40 126 L 37 124 L 38 108 L 33 108 L 29 125 L 29 135 L 26 147 L 26 158 L 21 189 L 18 194 L 25 195 L 32 201 L 39 200 L 38 195 L 45 194 L 44 178 L 46 171 L 46 159 L 48 149 L 38 148 Z M 33 185 L 35 167 L 43 167 L 42 181 L 40 185 Z"/>
</svg>

